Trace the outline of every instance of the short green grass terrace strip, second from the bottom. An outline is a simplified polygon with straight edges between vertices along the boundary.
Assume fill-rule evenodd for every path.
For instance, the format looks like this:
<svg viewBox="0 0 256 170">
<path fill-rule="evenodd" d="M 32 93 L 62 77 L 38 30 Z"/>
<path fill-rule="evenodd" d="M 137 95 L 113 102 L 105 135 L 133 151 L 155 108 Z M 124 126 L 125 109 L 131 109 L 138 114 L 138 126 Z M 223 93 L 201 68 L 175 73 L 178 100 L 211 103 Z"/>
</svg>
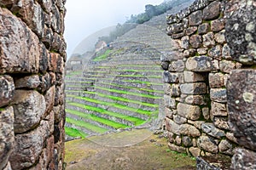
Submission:
<svg viewBox="0 0 256 170">
<path fill-rule="evenodd" d="M 108 132 L 107 128 L 102 128 L 102 127 L 97 127 L 95 125 L 92 125 L 88 122 L 84 122 L 84 121 L 76 121 L 73 118 L 70 117 L 66 117 L 66 122 L 77 125 L 79 127 L 84 127 L 89 129 L 90 131 L 93 131 L 95 133 L 105 133 Z"/>
</svg>

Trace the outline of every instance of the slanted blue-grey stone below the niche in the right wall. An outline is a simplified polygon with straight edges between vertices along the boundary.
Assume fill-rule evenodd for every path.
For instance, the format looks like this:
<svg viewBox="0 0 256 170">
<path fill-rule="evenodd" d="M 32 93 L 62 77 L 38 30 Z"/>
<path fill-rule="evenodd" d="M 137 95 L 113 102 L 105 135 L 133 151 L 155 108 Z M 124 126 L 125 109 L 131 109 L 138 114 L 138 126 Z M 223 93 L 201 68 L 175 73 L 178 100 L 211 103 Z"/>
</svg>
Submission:
<svg viewBox="0 0 256 170">
<path fill-rule="evenodd" d="M 222 137 L 225 136 L 224 131 L 218 129 L 212 123 L 202 123 L 201 129 L 204 133 L 207 133 L 208 135 L 218 139 L 221 139 Z"/>
</svg>

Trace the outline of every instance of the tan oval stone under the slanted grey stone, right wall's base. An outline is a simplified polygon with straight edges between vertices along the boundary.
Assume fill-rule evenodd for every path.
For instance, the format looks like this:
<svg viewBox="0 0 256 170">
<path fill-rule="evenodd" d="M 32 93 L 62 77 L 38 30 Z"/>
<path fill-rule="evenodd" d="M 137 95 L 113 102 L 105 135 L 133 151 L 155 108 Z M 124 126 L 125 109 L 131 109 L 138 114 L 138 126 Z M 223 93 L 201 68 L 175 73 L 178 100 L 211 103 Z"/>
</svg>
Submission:
<svg viewBox="0 0 256 170">
<path fill-rule="evenodd" d="M 197 139 L 197 145 L 199 148 L 203 150 L 207 150 L 211 153 L 218 153 L 218 144 L 208 136 L 201 136 L 199 139 Z"/>
</svg>

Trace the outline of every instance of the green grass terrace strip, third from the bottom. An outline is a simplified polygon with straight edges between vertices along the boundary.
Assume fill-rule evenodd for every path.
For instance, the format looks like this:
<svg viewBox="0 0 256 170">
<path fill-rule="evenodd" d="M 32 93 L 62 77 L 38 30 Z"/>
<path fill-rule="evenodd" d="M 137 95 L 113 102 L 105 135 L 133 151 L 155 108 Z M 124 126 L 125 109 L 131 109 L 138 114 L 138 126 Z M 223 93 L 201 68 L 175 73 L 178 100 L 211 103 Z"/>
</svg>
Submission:
<svg viewBox="0 0 256 170">
<path fill-rule="evenodd" d="M 73 110 L 70 110 L 70 109 L 66 109 L 65 111 L 67 111 L 70 114 L 83 117 L 84 119 L 90 119 L 90 120 L 95 121 L 95 122 L 101 122 L 102 124 L 106 124 L 106 125 L 108 125 L 110 127 L 113 127 L 115 129 L 129 127 L 129 126 L 121 124 L 119 122 L 113 122 L 113 121 L 110 121 L 108 119 L 104 119 L 102 117 L 95 116 L 93 114 L 84 114 L 83 112 L 73 111 Z"/>
</svg>

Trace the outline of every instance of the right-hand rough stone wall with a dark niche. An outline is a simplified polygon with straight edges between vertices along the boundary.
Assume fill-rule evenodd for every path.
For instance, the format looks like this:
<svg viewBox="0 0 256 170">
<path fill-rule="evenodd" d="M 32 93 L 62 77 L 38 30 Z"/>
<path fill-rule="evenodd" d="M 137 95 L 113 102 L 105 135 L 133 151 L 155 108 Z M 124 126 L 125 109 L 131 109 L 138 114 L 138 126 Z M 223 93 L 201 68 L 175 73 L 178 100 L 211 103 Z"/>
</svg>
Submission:
<svg viewBox="0 0 256 170">
<path fill-rule="evenodd" d="M 202 0 L 167 16 L 176 44 L 161 59 L 172 150 L 235 154 L 233 169 L 255 168 L 255 8 L 249 0 Z"/>
</svg>

